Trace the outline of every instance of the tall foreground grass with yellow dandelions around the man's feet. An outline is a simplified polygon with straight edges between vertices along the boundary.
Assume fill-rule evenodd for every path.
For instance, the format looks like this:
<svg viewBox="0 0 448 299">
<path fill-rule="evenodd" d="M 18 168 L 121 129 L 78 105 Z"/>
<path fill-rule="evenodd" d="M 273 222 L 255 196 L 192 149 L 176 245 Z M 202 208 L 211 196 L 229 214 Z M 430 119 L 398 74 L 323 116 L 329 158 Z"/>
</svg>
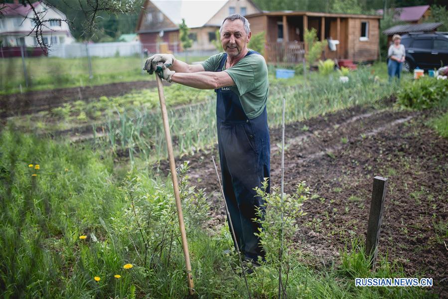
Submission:
<svg viewBox="0 0 448 299">
<path fill-rule="evenodd" d="M 117 170 L 113 157 L 86 146 L 0 132 L 0 292 L 4 298 L 184 298 L 183 253 L 169 180 L 144 165 Z M 39 164 L 36 170 L 28 164 Z M 226 226 L 203 230 L 206 196 L 186 181 L 181 197 L 199 298 L 245 298 L 244 280 Z M 37 176 L 31 176 L 37 174 Z M 87 236 L 80 240 L 79 236 Z M 355 288 L 357 277 L 406 277 L 380 258 L 375 271 L 359 242 L 336 264 L 306 265 L 290 255 L 290 298 L 422 298 L 427 289 Z M 316 258 L 316 257 L 314 257 Z M 302 262 L 301 262 L 302 261 Z M 132 269 L 124 269 L 125 264 Z M 120 279 L 114 275 L 121 275 Z M 96 282 L 94 277 L 101 280 Z M 274 298 L 277 269 L 250 275 L 254 298 Z"/>
</svg>

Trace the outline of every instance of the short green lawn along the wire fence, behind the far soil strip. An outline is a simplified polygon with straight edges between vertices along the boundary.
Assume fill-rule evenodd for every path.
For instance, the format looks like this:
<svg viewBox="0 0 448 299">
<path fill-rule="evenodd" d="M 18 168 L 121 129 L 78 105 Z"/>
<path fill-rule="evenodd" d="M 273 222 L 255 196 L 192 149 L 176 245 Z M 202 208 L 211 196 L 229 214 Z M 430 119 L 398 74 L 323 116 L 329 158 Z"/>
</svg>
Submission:
<svg viewBox="0 0 448 299">
<path fill-rule="evenodd" d="M 205 58 L 207 57 L 192 56 L 188 60 L 202 61 Z M 25 92 L 154 79 L 154 76 L 142 72 L 145 60 L 140 56 L 91 57 L 91 61 L 92 79 L 89 78 L 87 57 L 25 58 L 29 82 L 26 87 L 21 57 L 0 59 L 0 94 L 20 92 L 20 85 Z"/>
</svg>

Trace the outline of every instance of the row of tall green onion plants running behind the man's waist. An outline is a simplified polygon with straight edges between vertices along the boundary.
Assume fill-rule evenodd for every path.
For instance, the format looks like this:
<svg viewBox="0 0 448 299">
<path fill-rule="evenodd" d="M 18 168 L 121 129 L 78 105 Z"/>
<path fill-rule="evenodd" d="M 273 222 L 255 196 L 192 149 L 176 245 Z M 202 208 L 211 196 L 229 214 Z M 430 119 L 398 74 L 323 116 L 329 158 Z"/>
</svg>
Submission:
<svg viewBox="0 0 448 299">
<path fill-rule="evenodd" d="M 268 102 L 270 127 L 281 124 L 283 97 L 287 100 L 286 122 L 291 123 L 350 106 L 374 104 L 392 93 L 393 85 L 375 80 L 368 68 L 350 73 L 349 78 L 349 82 L 342 83 L 335 76 L 314 73 L 307 82 L 293 86 L 276 80 L 276 84 L 271 84 Z M 215 105 L 215 99 L 209 97 L 200 104 L 168 110 L 176 155 L 195 152 L 216 142 Z M 167 156 L 158 110 L 129 109 L 119 113 L 118 121 L 109 119 L 106 127 L 106 145 L 116 153 L 131 157 L 142 153 L 151 162 Z"/>
</svg>

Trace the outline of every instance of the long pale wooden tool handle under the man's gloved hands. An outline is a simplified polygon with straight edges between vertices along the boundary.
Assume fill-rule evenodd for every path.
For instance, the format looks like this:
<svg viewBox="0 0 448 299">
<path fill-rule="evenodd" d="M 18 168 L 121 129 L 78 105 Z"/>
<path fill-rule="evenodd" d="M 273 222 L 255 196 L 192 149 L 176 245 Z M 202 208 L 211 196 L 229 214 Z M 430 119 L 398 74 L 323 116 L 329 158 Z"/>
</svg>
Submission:
<svg viewBox="0 0 448 299">
<path fill-rule="evenodd" d="M 168 148 L 169 169 L 171 170 L 172 185 L 174 189 L 174 197 L 176 198 L 177 218 L 179 219 L 180 236 L 182 238 L 183 256 L 185 258 L 185 268 L 187 272 L 188 291 L 193 295 L 193 275 L 191 274 L 190 254 L 188 252 L 187 234 L 185 232 L 185 224 L 183 222 L 182 206 L 180 204 L 179 185 L 177 183 L 176 165 L 174 163 L 174 154 L 172 150 L 171 133 L 169 131 L 168 113 L 166 112 L 165 95 L 163 94 L 162 79 L 155 74 L 157 81 L 158 98 L 160 100 L 160 108 L 162 110 L 163 128 L 165 129 L 166 146 Z"/>
</svg>

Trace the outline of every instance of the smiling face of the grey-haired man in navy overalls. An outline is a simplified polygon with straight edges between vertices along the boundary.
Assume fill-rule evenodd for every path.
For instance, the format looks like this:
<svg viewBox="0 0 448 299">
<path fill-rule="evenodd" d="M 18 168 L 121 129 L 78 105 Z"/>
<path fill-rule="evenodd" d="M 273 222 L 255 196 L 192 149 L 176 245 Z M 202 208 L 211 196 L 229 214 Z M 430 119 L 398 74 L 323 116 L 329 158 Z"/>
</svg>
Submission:
<svg viewBox="0 0 448 299">
<path fill-rule="evenodd" d="M 221 44 L 227 55 L 238 56 L 246 48 L 250 38 L 251 32 L 246 33 L 242 20 L 227 19 L 224 22 L 221 31 Z"/>
</svg>

